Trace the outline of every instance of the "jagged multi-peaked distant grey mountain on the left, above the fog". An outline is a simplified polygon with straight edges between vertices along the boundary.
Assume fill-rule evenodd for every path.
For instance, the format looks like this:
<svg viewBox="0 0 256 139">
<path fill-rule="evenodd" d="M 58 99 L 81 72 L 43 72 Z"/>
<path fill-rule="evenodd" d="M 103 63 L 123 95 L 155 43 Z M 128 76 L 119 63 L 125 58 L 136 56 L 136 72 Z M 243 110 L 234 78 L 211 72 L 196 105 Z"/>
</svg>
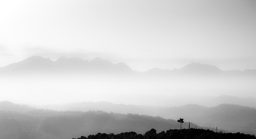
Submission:
<svg viewBox="0 0 256 139">
<path fill-rule="evenodd" d="M 7 65 L 0 68 L 2 72 L 73 72 L 73 73 L 86 73 L 86 72 L 132 72 L 124 63 L 113 64 L 108 60 L 102 60 L 99 57 L 93 60 L 83 60 L 80 58 L 72 57 L 59 57 L 56 61 L 49 58 L 40 56 L 31 56 L 20 62 Z"/>
</svg>

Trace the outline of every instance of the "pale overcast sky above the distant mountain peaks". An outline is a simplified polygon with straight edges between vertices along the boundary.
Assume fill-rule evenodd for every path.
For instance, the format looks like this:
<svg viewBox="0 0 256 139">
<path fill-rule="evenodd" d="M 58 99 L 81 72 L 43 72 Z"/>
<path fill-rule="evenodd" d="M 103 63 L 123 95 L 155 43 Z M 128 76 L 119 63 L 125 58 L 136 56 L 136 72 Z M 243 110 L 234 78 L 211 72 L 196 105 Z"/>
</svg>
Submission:
<svg viewBox="0 0 256 139">
<path fill-rule="evenodd" d="M 255 45 L 253 0 L 0 1 L 0 67 L 36 55 L 256 69 Z"/>
</svg>

